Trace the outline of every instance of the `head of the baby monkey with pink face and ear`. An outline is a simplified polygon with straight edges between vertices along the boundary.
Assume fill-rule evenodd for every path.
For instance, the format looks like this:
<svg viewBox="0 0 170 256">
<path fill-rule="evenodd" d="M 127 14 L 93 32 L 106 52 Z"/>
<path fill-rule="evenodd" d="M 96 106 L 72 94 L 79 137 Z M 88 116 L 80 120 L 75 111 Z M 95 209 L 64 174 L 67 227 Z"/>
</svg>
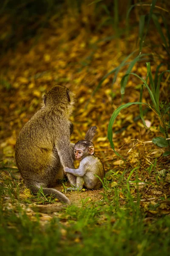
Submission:
<svg viewBox="0 0 170 256">
<path fill-rule="evenodd" d="M 82 160 L 88 155 L 94 154 L 94 144 L 89 140 L 79 140 L 74 145 L 74 154 L 76 160 Z"/>
</svg>

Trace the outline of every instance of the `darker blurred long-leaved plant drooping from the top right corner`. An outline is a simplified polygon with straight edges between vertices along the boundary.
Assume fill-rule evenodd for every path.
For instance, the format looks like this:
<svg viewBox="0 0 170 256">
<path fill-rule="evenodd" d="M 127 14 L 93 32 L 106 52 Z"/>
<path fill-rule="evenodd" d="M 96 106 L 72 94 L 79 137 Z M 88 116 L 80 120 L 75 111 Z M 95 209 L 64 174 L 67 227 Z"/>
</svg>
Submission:
<svg viewBox="0 0 170 256">
<path fill-rule="evenodd" d="M 117 2 L 115 1 L 115 4 L 116 3 Z M 140 7 L 140 6 L 143 7 L 143 8 L 145 8 L 146 6 L 150 6 L 150 11 L 148 12 L 147 15 L 141 15 L 139 17 L 139 48 L 136 49 L 135 51 L 131 52 L 127 57 L 125 57 L 124 60 L 122 61 L 122 63 L 118 67 L 114 68 L 109 73 L 107 73 L 105 76 L 103 76 L 103 78 L 101 79 L 99 84 L 94 89 L 94 92 L 92 93 L 91 97 L 93 97 L 94 94 L 97 92 L 97 90 L 99 90 L 99 88 L 102 86 L 103 81 L 105 81 L 105 79 L 107 79 L 108 76 L 114 74 L 113 82 L 112 82 L 112 87 L 113 87 L 113 84 L 116 82 L 117 75 L 118 75 L 119 71 L 122 69 L 122 67 L 124 67 L 125 65 L 128 65 L 127 72 L 126 72 L 126 74 L 128 74 L 128 73 L 130 73 L 130 71 L 132 70 L 132 68 L 136 64 L 136 62 L 139 62 L 139 61 L 142 61 L 142 60 L 146 61 L 146 59 L 145 59 L 146 56 L 152 54 L 152 53 L 142 54 L 144 41 L 145 41 L 145 38 L 147 37 L 147 33 L 149 31 L 149 26 L 150 26 L 150 20 L 151 19 L 153 20 L 153 22 L 156 26 L 156 30 L 159 33 L 160 37 L 161 37 L 163 47 L 165 48 L 165 50 L 167 51 L 167 54 L 170 57 L 170 50 L 169 50 L 170 49 L 170 32 L 169 32 L 169 28 L 168 28 L 168 25 L 167 25 L 167 21 L 166 21 L 164 15 L 161 15 L 159 12 L 155 12 L 155 10 L 160 10 L 160 9 L 164 12 L 168 12 L 168 10 L 163 9 L 159 6 L 156 6 L 156 0 L 152 0 L 151 4 L 141 2 L 141 3 L 136 3 L 132 6 L 130 6 L 130 9 L 127 11 L 127 15 L 126 15 L 127 29 L 129 29 L 129 21 L 128 20 L 129 20 L 131 10 L 135 7 Z M 164 36 L 163 30 L 162 30 L 161 25 L 159 23 L 159 19 L 158 19 L 159 16 L 162 17 L 164 28 L 165 28 L 166 34 L 167 34 L 167 38 Z M 116 18 L 115 18 L 113 23 L 114 24 L 116 23 Z M 130 57 L 132 57 L 138 51 L 139 51 L 138 55 L 135 58 L 133 58 L 132 61 L 127 62 L 128 59 Z M 125 93 L 125 84 L 127 83 L 127 79 L 128 79 L 128 75 L 122 81 L 122 86 L 121 86 L 122 98 L 123 98 L 124 93 Z M 87 107 L 87 105 L 88 105 L 88 102 L 86 104 L 86 107 Z"/>
</svg>

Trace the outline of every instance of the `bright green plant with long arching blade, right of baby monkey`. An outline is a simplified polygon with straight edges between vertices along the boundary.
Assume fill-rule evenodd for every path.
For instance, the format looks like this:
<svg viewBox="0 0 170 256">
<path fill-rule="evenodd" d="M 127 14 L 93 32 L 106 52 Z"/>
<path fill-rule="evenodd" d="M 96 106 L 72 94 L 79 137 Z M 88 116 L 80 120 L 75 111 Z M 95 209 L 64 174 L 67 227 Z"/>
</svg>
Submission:
<svg viewBox="0 0 170 256">
<path fill-rule="evenodd" d="M 142 89 L 141 89 L 141 93 L 140 93 L 141 94 L 140 99 L 142 101 L 143 87 L 145 87 L 148 90 L 148 93 L 150 95 L 151 104 L 147 104 L 147 103 L 143 103 L 143 102 L 129 102 L 125 105 L 122 105 L 113 112 L 113 114 L 111 116 L 111 119 L 110 119 L 110 122 L 109 122 L 109 125 L 108 125 L 108 140 L 109 140 L 109 142 L 111 144 L 111 147 L 113 148 L 115 154 L 118 155 L 119 157 L 121 157 L 121 155 L 118 152 L 115 151 L 114 143 L 113 143 L 113 140 L 112 140 L 113 139 L 113 131 L 112 131 L 113 123 L 114 123 L 116 117 L 119 115 L 120 111 L 123 108 L 127 108 L 127 107 L 129 107 L 133 104 L 147 105 L 150 109 L 152 109 L 152 111 L 154 111 L 154 113 L 156 113 L 156 115 L 158 116 L 159 122 L 160 122 L 159 129 L 160 129 L 160 132 L 162 132 L 164 134 L 164 137 L 156 137 L 156 138 L 153 138 L 152 141 L 153 141 L 153 143 L 155 143 L 156 145 L 158 145 L 160 147 L 168 147 L 169 146 L 169 140 L 167 140 L 167 139 L 168 139 L 168 129 L 170 128 L 170 123 L 168 124 L 168 121 L 166 119 L 166 114 L 167 114 L 168 111 L 170 111 L 170 104 L 167 104 L 167 106 L 163 110 L 163 108 L 162 108 L 162 106 L 160 105 L 160 102 L 159 102 L 159 90 L 160 90 L 160 83 L 161 83 L 161 79 L 162 79 L 163 74 L 165 72 L 170 73 L 170 70 L 166 70 L 166 71 L 162 72 L 159 75 L 158 84 L 154 84 L 153 76 L 152 76 L 151 69 L 150 69 L 150 62 L 147 62 L 146 64 L 147 64 L 146 80 L 142 79 L 140 76 L 136 75 L 135 73 L 127 73 L 122 78 L 121 90 L 124 92 L 125 86 L 126 86 L 125 81 L 127 83 L 126 78 L 130 74 L 132 74 L 134 76 L 137 76 L 143 82 L 142 87 L 141 87 Z M 149 78 L 149 81 L 150 81 L 150 86 L 147 84 L 147 79 L 148 78 Z M 142 121 L 144 122 L 142 108 L 140 109 L 140 115 L 141 115 Z M 144 122 L 144 125 L 145 125 L 145 122 Z M 164 155 L 167 155 L 167 152 Z"/>
</svg>

